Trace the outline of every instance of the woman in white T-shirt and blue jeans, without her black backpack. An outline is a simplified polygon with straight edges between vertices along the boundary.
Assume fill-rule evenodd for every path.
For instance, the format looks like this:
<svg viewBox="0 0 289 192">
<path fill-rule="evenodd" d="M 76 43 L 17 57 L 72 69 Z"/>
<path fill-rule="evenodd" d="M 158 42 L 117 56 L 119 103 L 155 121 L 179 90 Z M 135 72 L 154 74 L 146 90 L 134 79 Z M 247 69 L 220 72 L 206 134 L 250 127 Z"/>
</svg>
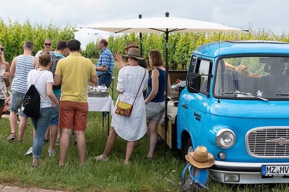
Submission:
<svg viewBox="0 0 289 192">
<path fill-rule="evenodd" d="M 27 76 L 28 88 L 34 84 L 40 95 L 40 113 L 38 117 L 32 117 L 31 121 L 36 130 L 33 142 L 33 163 L 32 167 L 39 164 L 39 158 L 43 148 L 43 140 L 52 114 L 52 107 L 58 105 L 58 100 L 53 94 L 53 75 L 47 69 L 50 66 L 50 54 L 43 53 L 39 56 L 40 67 L 29 71 Z M 51 100 L 53 101 L 53 105 Z"/>
</svg>

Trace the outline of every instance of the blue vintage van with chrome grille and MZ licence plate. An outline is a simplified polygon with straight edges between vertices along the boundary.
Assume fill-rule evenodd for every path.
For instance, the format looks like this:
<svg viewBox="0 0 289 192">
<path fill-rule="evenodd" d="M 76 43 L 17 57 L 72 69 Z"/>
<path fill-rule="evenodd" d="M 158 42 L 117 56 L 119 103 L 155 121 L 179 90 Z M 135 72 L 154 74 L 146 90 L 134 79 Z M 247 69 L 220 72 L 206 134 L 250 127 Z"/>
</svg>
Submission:
<svg viewBox="0 0 289 192">
<path fill-rule="evenodd" d="M 223 183 L 289 183 L 289 44 L 222 41 L 193 53 L 177 115 L 177 147 L 203 145 Z"/>
</svg>

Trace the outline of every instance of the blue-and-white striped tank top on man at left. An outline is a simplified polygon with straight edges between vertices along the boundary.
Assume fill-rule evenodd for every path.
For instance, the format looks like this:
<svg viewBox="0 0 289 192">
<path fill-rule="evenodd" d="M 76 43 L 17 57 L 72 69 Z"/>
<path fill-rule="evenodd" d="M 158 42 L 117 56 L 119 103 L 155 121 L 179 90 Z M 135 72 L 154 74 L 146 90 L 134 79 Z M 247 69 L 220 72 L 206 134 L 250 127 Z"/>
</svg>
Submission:
<svg viewBox="0 0 289 192">
<path fill-rule="evenodd" d="M 34 69 L 34 56 L 19 55 L 15 68 L 15 76 L 12 81 L 11 90 L 26 94 L 27 92 L 27 75 L 30 70 Z"/>
</svg>

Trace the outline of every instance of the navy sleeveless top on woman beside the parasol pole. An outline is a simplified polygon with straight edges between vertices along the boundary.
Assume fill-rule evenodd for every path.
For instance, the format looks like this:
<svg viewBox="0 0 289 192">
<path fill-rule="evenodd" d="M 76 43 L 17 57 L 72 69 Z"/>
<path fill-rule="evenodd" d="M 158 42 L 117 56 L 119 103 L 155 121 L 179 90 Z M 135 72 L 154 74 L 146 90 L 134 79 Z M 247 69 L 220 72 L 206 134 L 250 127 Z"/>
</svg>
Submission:
<svg viewBox="0 0 289 192">
<path fill-rule="evenodd" d="M 158 76 L 158 92 L 156 94 L 156 96 L 151 100 L 152 102 L 163 102 L 165 100 L 165 87 L 166 87 L 166 71 L 160 69 L 160 68 L 156 68 L 159 72 L 159 76 Z M 147 92 L 146 92 L 146 98 L 149 96 L 150 92 L 151 92 L 151 77 L 148 78 L 147 81 Z"/>
</svg>

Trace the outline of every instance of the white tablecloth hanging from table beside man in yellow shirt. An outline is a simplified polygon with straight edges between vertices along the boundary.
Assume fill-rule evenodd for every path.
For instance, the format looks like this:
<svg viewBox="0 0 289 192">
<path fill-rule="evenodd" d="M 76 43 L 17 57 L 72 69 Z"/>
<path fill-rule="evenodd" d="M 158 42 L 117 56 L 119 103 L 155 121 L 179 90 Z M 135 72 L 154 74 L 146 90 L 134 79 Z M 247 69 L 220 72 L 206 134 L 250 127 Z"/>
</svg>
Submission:
<svg viewBox="0 0 289 192">
<path fill-rule="evenodd" d="M 114 105 L 110 96 L 108 97 L 87 97 L 88 111 L 109 111 L 113 112 Z"/>
</svg>

